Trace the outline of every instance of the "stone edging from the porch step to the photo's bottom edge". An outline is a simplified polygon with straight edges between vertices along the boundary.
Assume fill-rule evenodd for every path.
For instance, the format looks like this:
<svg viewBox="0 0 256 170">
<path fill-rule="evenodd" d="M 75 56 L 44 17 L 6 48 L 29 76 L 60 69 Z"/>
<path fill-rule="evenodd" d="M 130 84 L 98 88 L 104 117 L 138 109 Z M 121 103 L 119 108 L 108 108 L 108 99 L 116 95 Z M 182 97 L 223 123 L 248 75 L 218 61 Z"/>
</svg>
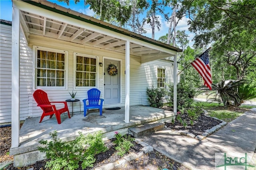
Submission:
<svg viewBox="0 0 256 170">
<path fill-rule="evenodd" d="M 143 148 L 141 149 L 140 152 L 136 153 L 130 153 L 127 156 L 124 156 L 124 158 L 121 158 L 119 160 L 117 160 L 114 163 L 108 163 L 102 166 L 99 166 L 97 168 L 95 168 L 94 170 L 114 170 L 114 169 L 118 169 L 121 166 L 125 165 L 126 162 L 131 161 L 131 160 L 135 160 L 137 158 L 140 158 L 143 154 L 147 154 L 149 152 L 152 152 L 154 150 L 154 148 L 148 144 L 146 144 L 145 142 L 142 142 L 140 140 L 138 140 L 137 138 L 135 138 L 135 142 L 137 142 L 138 144 L 140 144 L 141 146 L 143 146 Z"/>
</svg>

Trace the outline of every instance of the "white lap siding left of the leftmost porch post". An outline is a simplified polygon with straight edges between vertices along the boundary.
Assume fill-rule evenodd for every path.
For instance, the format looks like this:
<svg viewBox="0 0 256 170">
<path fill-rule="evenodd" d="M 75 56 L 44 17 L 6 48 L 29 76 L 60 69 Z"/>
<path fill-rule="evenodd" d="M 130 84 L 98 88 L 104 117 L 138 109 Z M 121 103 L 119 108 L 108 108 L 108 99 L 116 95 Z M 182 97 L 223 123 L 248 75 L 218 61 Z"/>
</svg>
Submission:
<svg viewBox="0 0 256 170">
<path fill-rule="evenodd" d="M 0 123 L 11 122 L 12 26 L 0 26 Z"/>
</svg>

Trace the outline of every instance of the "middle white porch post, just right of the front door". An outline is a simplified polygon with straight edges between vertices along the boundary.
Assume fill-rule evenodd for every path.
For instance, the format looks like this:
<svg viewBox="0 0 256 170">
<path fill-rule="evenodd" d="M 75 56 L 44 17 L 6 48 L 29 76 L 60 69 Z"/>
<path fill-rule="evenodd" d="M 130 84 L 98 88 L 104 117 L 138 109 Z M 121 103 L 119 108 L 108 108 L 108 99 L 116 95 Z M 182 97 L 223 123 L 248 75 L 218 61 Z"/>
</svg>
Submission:
<svg viewBox="0 0 256 170">
<path fill-rule="evenodd" d="M 130 42 L 125 42 L 125 116 L 124 122 L 130 122 Z"/>
</svg>

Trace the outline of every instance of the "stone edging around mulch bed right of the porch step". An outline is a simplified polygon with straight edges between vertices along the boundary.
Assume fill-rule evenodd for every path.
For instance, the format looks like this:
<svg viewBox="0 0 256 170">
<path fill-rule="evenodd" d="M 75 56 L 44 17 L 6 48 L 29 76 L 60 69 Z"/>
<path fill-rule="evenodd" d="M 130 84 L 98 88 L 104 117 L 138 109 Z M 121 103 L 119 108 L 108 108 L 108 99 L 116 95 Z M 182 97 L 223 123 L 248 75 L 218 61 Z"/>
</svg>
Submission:
<svg viewBox="0 0 256 170">
<path fill-rule="evenodd" d="M 204 113 L 207 113 L 207 111 L 204 110 Z M 206 117 L 210 117 L 210 116 L 207 116 L 205 115 Z M 214 118 L 214 119 L 217 119 L 219 121 L 222 121 L 216 117 L 211 117 L 211 118 Z M 210 134 L 216 132 L 217 130 L 219 130 L 220 128 L 226 126 L 228 123 L 226 123 L 225 121 L 222 121 L 222 123 L 220 123 L 219 125 L 216 125 L 215 127 L 212 127 L 210 129 L 207 129 L 207 130 L 204 130 L 204 133 L 202 134 L 198 134 L 198 135 L 194 135 L 193 133 L 190 133 L 190 132 L 185 132 L 185 131 L 178 131 L 181 135 L 184 135 L 184 136 L 188 136 L 190 138 L 196 138 L 197 140 L 203 140 L 204 138 L 206 138 L 207 136 L 209 136 Z"/>
</svg>

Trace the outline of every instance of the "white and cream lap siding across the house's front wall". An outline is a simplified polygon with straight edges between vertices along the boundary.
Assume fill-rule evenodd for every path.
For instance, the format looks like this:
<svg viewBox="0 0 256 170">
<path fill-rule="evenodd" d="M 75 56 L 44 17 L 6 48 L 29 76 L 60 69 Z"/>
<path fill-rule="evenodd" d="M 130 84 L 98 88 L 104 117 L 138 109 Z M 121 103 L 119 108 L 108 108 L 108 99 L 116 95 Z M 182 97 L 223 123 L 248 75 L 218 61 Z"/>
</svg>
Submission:
<svg viewBox="0 0 256 170">
<path fill-rule="evenodd" d="M 11 26 L 1 24 L 1 52 L 0 52 L 0 123 L 11 122 L 11 44 L 12 33 Z M 104 67 L 99 67 L 98 63 L 103 63 L 103 58 L 120 60 L 121 68 L 118 73 L 121 75 L 121 103 L 108 105 L 104 107 L 123 107 L 125 103 L 125 56 L 123 53 L 99 49 L 86 45 L 65 42 L 42 36 L 30 35 L 29 46 L 26 45 L 24 37 L 21 34 L 20 38 L 20 120 L 25 120 L 28 117 L 40 117 L 42 110 L 37 107 L 33 98 L 34 87 L 34 59 L 33 45 L 40 47 L 48 47 L 52 49 L 60 49 L 68 51 L 65 64 L 67 64 L 67 85 L 66 89 L 44 89 L 48 93 L 50 101 L 65 101 L 70 99 L 69 91 L 77 91 L 76 99 L 80 99 L 81 110 L 83 111 L 82 100 L 87 98 L 87 90 L 91 87 L 76 88 L 74 84 L 75 61 L 74 53 L 82 53 L 97 57 L 98 79 L 96 80 L 97 87 L 103 94 Z M 156 87 L 157 83 L 157 67 L 166 69 L 166 82 L 173 82 L 172 62 L 157 60 L 148 63 L 140 63 L 140 57 L 131 56 L 130 58 L 130 105 L 149 105 L 146 88 Z M 68 107 L 71 112 L 71 103 Z M 79 103 L 74 103 L 74 112 L 80 111 Z"/>
</svg>

